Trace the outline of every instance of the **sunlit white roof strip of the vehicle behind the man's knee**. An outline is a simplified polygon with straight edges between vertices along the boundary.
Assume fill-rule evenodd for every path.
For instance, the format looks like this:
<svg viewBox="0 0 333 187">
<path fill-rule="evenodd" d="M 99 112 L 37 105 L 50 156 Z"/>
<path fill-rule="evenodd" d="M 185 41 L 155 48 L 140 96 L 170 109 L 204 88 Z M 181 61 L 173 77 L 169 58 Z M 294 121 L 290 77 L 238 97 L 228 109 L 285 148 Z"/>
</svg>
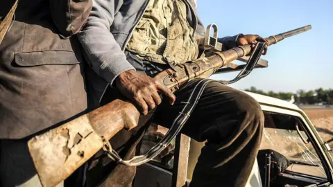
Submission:
<svg viewBox="0 0 333 187">
<path fill-rule="evenodd" d="M 243 91 L 243 92 L 245 92 L 246 94 L 255 98 L 255 100 L 257 100 L 257 102 L 260 103 L 260 105 L 262 105 L 262 104 L 274 105 L 276 107 L 284 107 L 284 108 L 288 108 L 288 109 L 300 110 L 300 108 L 297 105 L 294 105 L 293 103 L 289 103 L 288 101 L 285 101 L 285 100 L 272 98 L 272 97 L 264 96 L 264 95 L 260 95 L 260 94 L 255 94 L 255 93 L 252 93 L 249 91 Z"/>
</svg>

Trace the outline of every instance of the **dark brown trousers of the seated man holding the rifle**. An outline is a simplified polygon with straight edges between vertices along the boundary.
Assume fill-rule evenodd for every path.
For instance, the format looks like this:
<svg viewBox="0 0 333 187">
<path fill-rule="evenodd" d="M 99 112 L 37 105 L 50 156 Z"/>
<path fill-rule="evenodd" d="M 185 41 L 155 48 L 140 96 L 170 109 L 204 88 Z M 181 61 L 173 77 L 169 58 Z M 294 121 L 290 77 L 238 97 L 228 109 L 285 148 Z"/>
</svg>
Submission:
<svg viewBox="0 0 333 187">
<path fill-rule="evenodd" d="M 134 62 L 133 59 L 129 61 L 139 72 L 152 76 L 158 73 L 155 71 L 158 67 L 152 68 L 150 63 Z M 157 107 L 153 122 L 170 127 L 184 105 L 182 101 L 187 100 L 199 80 L 192 80 L 176 91 L 176 103 L 173 106 L 169 105 L 168 100 L 164 100 Z M 116 89 L 107 91 L 102 103 L 110 102 L 112 99 L 108 97 L 116 95 L 115 93 Z M 248 94 L 219 82 L 208 84 L 196 109 L 182 129 L 182 133 L 191 139 L 207 141 L 201 150 L 190 186 L 245 186 L 257 157 L 263 125 L 262 110 Z M 133 147 L 129 149 L 133 143 L 131 136 L 131 132 L 123 131 L 111 141 L 114 148 L 126 157 L 135 153 Z M 130 141 L 124 143 L 128 139 Z M 102 186 L 130 186 L 135 168 L 113 162 L 107 164 L 101 160 L 106 161 L 103 157 L 99 159 L 99 164 L 95 163 L 94 167 L 90 167 L 87 181 L 99 173 L 96 168 L 104 168 L 104 172 L 108 170 L 110 175 L 103 181 Z"/>
</svg>

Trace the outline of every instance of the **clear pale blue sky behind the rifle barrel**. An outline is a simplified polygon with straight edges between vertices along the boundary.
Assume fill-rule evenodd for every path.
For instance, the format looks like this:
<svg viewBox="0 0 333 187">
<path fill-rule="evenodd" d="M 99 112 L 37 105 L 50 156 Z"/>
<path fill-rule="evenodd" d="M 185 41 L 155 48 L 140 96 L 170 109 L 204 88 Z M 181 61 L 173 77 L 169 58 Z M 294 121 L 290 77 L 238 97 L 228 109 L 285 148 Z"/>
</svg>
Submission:
<svg viewBox="0 0 333 187">
<path fill-rule="evenodd" d="M 268 37 L 308 24 L 306 33 L 268 48 L 268 68 L 255 69 L 232 84 L 237 89 L 255 86 L 264 91 L 333 88 L 333 1 L 225 1 L 198 0 L 198 15 L 205 26 L 219 26 L 219 37 L 258 34 Z M 230 79 L 234 73 L 214 75 Z"/>
</svg>

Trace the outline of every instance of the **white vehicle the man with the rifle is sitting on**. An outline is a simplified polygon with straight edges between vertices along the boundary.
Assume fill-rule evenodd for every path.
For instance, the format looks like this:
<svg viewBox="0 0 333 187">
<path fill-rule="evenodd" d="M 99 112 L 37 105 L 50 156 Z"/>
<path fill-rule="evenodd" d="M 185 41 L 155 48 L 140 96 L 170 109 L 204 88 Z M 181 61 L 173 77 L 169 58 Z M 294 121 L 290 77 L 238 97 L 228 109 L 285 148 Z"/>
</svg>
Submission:
<svg viewBox="0 0 333 187">
<path fill-rule="evenodd" d="M 284 100 L 246 93 L 258 101 L 265 116 L 262 144 L 246 186 L 333 186 L 330 146 L 305 112 Z M 176 146 L 172 145 L 167 154 L 137 168 L 134 187 L 187 186 L 203 144 L 178 136 Z M 288 164 L 280 163 L 276 155 L 282 155 Z"/>
</svg>

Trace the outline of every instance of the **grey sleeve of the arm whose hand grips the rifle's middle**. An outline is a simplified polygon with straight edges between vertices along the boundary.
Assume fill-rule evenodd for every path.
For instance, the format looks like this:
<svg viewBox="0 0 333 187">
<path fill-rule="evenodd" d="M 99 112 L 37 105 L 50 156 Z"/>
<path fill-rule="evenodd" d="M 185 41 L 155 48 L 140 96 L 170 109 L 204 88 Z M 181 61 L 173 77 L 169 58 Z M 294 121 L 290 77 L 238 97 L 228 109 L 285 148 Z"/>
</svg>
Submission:
<svg viewBox="0 0 333 187">
<path fill-rule="evenodd" d="M 92 69 L 110 84 L 121 72 L 135 69 L 110 33 L 114 15 L 122 3 L 121 0 L 94 0 L 87 23 L 78 33 Z"/>
</svg>

